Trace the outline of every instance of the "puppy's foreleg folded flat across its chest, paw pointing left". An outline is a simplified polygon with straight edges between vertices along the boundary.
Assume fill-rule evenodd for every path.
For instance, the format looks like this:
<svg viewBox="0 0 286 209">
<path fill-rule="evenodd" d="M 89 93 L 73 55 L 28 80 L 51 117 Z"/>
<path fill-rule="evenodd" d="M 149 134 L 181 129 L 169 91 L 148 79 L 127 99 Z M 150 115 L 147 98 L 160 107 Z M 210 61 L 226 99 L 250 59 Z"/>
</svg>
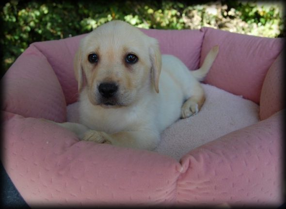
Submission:
<svg viewBox="0 0 286 209">
<path fill-rule="evenodd" d="M 102 131 L 89 130 L 85 133 L 83 140 L 152 150 L 159 143 L 159 133 L 152 132 L 152 130 L 139 130 L 108 134 Z"/>
</svg>

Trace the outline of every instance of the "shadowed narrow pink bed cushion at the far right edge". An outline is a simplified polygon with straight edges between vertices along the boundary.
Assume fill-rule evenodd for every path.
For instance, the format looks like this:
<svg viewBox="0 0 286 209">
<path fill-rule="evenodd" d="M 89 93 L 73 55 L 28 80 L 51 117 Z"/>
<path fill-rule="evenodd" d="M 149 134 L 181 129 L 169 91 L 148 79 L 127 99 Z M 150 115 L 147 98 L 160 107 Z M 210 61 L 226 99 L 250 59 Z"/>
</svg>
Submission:
<svg viewBox="0 0 286 209">
<path fill-rule="evenodd" d="M 281 52 L 275 62 L 270 66 L 263 82 L 260 96 L 261 120 L 285 108 L 282 90 L 283 73 L 285 73 L 284 57 L 285 54 Z"/>
</svg>

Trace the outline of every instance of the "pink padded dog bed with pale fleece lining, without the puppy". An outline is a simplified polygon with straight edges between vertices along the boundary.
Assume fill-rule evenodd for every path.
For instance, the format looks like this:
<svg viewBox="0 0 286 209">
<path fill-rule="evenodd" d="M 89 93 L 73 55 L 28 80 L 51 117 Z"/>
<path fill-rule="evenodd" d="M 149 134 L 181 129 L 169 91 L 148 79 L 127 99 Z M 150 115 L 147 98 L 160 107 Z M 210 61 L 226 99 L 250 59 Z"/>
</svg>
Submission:
<svg viewBox="0 0 286 209">
<path fill-rule="evenodd" d="M 201 112 L 178 120 L 154 151 L 79 141 L 72 60 L 85 35 L 32 44 L 4 75 L 4 167 L 38 205 L 279 205 L 282 203 L 283 40 L 201 30 L 143 30 L 161 52 L 197 69 L 220 52 Z"/>
</svg>

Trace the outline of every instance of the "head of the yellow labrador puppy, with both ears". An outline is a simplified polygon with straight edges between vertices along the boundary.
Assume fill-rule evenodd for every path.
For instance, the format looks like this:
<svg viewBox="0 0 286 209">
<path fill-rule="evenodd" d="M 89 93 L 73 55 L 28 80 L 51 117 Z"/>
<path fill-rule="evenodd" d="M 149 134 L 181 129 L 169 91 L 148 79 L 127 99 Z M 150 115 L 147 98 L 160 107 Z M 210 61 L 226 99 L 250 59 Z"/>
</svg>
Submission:
<svg viewBox="0 0 286 209">
<path fill-rule="evenodd" d="M 102 107 L 128 106 L 146 93 L 159 93 L 158 41 L 123 22 L 111 21 L 80 42 L 74 59 L 79 92 Z"/>
</svg>

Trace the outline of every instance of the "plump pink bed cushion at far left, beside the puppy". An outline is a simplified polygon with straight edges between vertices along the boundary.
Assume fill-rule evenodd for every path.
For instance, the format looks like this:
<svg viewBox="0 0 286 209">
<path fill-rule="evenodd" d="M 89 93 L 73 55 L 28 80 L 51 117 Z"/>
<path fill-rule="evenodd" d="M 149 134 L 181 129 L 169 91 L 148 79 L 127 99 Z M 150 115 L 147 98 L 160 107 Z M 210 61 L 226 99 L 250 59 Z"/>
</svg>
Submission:
<svg viewBox="0 0 286 209">
<path fill-rule="evenodd" d="M 34 46 L 25 50 L 3 76 L 3 109 L 24 117 L 66 119 L 66 104 L 57 75 Z"/>
</svg>

